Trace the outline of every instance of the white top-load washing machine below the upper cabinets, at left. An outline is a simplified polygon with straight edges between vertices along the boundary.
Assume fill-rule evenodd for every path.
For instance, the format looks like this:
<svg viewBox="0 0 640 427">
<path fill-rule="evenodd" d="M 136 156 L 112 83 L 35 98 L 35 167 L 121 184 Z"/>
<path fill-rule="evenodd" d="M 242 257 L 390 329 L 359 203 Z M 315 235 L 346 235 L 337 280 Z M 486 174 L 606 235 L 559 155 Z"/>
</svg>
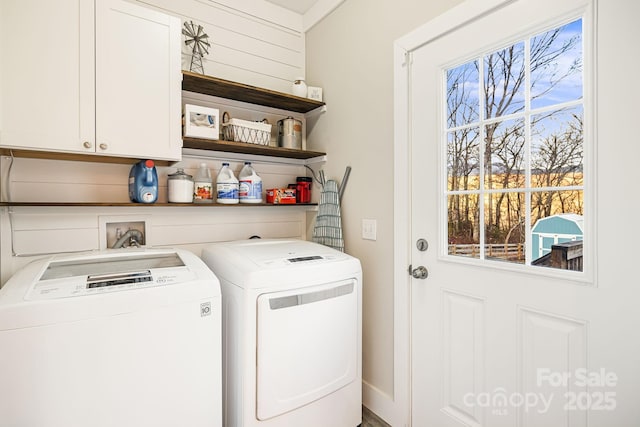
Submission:
<svg viewBox="0 0 640 427">
<path fill-rule="evenodd" d="M 182 250 L 33 261 L 0 289 L 0 425 L 222 425 L 221 296 Z"/>
</svg>

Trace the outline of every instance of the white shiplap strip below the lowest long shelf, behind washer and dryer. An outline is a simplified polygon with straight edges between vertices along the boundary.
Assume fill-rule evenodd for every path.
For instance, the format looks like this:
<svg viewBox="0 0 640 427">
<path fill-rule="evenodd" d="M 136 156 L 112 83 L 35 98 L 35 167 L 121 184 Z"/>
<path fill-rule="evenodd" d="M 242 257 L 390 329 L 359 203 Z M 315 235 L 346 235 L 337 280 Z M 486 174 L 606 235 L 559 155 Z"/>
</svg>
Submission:
<svg viewBox="0 0 640 427">
<path fill-rule="evenodd" d="M 28 262 L 55 253 L 101 248 L 107 222 L 145 221 L 147 246 L 183 248 L 200 255 L 212 242 L 305 238 L 302 207 L 0 207 L 4 284 Z"/>
</svg>

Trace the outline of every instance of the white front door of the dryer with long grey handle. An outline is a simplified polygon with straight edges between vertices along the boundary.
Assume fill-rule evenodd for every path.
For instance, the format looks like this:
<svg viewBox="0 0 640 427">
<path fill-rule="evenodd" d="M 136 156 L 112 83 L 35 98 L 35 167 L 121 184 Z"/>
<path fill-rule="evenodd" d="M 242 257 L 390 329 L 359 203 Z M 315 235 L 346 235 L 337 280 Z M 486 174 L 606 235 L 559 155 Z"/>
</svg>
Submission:
<svg viewBox="0 0 640 427">
<path fill-rule="evenodd" d="M 258 297 L 259 420 L 320 399 L 356 378 L 358 300 L 354 280 Z"/>
</svg>

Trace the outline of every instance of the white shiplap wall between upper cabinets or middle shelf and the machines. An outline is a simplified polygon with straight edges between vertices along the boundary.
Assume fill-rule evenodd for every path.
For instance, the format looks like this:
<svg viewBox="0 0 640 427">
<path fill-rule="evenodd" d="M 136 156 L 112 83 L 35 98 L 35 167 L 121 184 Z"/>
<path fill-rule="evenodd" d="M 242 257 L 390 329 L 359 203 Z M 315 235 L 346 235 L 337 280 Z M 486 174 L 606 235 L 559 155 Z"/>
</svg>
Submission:
<svg viewBox="0 0 640 427">
<path fill-rule="evenodd" d="M 215 179 L 220 158 L 184 156 L 171 166 L 157 166 L 158 202 L 167 202 L 167 175 L 178 167 L 195 175 L 205 163 Z M 236 175 L 240 159 L 229 160 Z M 286 187 L 304 176 L 302 165 L 253 160 L 263 188 Z M 0 157 L 5 198 L 12 202 L 129 202 L 131 165 Z M 316 188 L 316 192 L 318 189 Z M 140 207 L 0 207 L 0 284 L 34 257 L 104 249 L 105 222 L 145 221 L 147 246 L 174 246 L 197 255 L 207 243 L 263 238 L 307 238 L 307 210 L 298 206 L 140 206 Z"/>
</svg>

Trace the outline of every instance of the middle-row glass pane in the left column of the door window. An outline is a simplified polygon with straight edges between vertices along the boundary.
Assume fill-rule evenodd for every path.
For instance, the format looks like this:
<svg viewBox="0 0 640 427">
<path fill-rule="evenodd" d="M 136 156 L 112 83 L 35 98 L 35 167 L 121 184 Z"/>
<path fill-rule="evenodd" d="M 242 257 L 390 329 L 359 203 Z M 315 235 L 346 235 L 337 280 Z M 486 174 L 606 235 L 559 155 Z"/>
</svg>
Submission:
<svg viewBox="0 0 640 427">
<path fill-rule="evenodd" d="M 449 191 L 480 188 L 480 141 L 477 127 L 448 132 L 447 175 Z"/>
</svg>

